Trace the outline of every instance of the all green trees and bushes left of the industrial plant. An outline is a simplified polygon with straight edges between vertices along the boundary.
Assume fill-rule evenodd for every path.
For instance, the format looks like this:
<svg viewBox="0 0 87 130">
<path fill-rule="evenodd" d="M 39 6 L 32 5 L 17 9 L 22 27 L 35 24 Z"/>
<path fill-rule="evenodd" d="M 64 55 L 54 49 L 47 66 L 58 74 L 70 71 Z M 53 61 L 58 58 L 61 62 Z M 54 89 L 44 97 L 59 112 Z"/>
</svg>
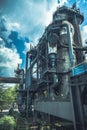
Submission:
<svg viewBox="0 0 87 130">
<path fill-rule="evenodd" d="M 2 112 L 0 115 L 0 130 L 29 130 L 26 118 L 21 117 L 20 113 L 13 109 L 13 104 L 17 103 L 17 89 L 18 85 L 0 88 L 0 110 L 9 109 L 9 113 Z"/>
</svg>

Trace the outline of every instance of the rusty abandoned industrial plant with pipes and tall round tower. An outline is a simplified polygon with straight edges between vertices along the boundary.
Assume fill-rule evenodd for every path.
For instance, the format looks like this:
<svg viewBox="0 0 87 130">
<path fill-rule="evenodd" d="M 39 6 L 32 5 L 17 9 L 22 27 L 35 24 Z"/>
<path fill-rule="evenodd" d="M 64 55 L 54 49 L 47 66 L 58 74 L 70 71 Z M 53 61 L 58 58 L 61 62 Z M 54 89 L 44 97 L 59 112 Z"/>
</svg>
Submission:
<svg viewBox="0 0 87 130">
<path fill-rule="evenodd" d="M 50 130 L 87 130 L 83 21 L 75 4 L 58 7 L 38 44 L 26 53 L 25 68 L 18 66 L 16 77 L 0 77 L 0 83 L 19 84 L 18 110 L 37 130 L 42 120 L 54 126 Z"/>
</svg>

